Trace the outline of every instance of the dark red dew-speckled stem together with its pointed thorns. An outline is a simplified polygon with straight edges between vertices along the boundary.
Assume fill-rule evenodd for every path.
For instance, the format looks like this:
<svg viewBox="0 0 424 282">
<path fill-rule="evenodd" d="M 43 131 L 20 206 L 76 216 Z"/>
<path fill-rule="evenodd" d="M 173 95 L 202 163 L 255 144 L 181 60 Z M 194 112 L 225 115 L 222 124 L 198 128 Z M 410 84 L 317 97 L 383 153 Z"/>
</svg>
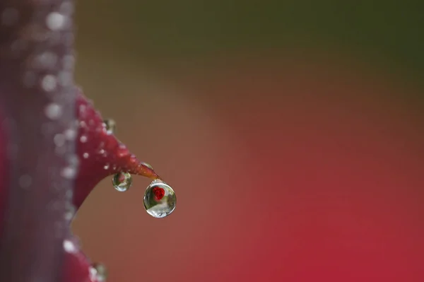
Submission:
<svg viewBox="0 0 424 282">
<path fill-rule="evenodd" d="M 64 245 L 69 207 L 116 172 L 159 178 L 73 85 L 72 12 L 72 0 L 0 1 L 0 281 L 98 282 Z"/>
</svg>

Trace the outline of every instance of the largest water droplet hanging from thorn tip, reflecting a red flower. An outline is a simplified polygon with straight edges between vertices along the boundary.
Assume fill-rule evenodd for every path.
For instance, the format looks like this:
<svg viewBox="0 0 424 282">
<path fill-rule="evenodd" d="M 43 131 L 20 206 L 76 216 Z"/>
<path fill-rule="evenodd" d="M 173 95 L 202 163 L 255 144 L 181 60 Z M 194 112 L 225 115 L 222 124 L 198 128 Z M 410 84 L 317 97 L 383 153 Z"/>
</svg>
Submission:
<svg viewBox="0 0 424 282">
<path fill-rule="evenodd" d="M 144 192 L 144 208 L 154 218 L 164 218 L 175 210 L 177 195 L 170 185 L 154 180 Z"/>
</svg>

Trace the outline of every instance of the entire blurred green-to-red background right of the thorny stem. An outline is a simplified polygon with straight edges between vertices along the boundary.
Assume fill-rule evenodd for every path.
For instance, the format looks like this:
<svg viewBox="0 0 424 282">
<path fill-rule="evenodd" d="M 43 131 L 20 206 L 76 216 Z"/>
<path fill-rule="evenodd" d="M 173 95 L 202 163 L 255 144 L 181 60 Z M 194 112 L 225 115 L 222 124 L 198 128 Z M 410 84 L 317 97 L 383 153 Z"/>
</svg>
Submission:
<svg viewBox="0 0 424 282">
<path fill-rule="evenodd" d="M 102 181 L 109 281 L 424 281 L 419 1 L 78 1 L 76 81 L 177 192 Z"/>
</svg>

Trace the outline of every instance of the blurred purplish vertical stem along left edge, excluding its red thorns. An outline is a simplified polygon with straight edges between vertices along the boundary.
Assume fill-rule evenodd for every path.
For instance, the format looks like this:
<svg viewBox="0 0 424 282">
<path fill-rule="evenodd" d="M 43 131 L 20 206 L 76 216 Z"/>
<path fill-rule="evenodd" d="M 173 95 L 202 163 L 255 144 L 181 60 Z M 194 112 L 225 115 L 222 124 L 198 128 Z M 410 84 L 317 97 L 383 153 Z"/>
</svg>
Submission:
<svg viewBox="0 0 424 282">
<path fill-rule="evenodd" d="M 72 11 L 69 1 L 0 1 L 2 282 L 62 276 L 76 170 L 64 138 L 75 121 Z"/>
</svg>

